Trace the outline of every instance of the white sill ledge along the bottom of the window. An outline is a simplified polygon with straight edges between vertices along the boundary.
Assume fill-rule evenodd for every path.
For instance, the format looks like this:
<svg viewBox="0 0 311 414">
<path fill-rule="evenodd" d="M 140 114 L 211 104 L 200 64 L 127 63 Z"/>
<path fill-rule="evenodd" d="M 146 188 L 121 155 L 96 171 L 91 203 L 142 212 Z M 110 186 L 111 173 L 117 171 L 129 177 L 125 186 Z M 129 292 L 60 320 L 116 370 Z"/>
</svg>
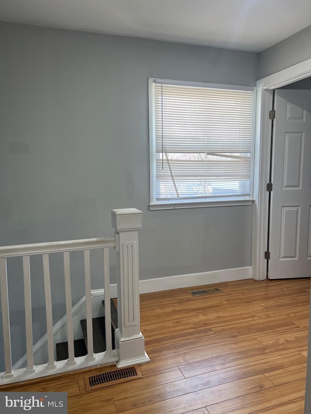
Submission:
<svg viewBox="0 0 311 414">
<path fill-rule="evenodd" d="M 218 200 L 183 200 L 183 201 L 158 201 L 149 204 L 149 210 L 175 210 L 180 208 L 202 208 L 202 207 L 226 207 L 252 205 L 254 199 L 218 199 Z"/>
</svg>

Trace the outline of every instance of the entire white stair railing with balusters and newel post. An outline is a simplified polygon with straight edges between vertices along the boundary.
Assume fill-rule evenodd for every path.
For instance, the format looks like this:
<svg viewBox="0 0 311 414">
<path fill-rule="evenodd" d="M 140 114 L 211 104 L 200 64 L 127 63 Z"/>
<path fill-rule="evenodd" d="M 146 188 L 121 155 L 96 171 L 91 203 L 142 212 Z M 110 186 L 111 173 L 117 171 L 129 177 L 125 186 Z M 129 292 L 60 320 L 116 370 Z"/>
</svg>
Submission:
<svg viewBox="0 0 311 414">
<path fill-rule="evenodd" d="M 112 210 L 112 225 L 116 232 L 113 237 L 70 240 L 51 243 L 0 247 L 0 292 L 4 342 L 5 372 L 0 374 L 0 384 L 24 381 L 85 368 L 92 365 L 116 363 L 117 366 L 139 364 L 149 361 L 144 348 L 144 337 L 139 330 L 139 292 L 138 292 L 138 229 L 141 228 L 141 212 L 137 209 Z M 106 350 L 94 353 L 93 324 L 91 304 L 91 265 L 90 249 L 101 248 L 104 255 L 104 303 Z M 109 248 L 117 251 L 117 297 L 118 329 L 115 332 L 116 349 L 112 349 Z M 87 356 L 74 356 L 73 317 L 71 303 L 70 251 L 84 251 L 85 298 Z M 57 361 L 54 358 L 54 337 L 52 318 L 52 294 L 49 254 L 63 252 L 65 298 L 67 317 L 68 360 Z M 30 256 L 42 255 L 45 308 L 47 317 L 48 361 L 34 365 L 33 323 L 31 303 L 31 266 Z M 21 256 L 23 260 L 23 280 L 25 297 L 25 338 L 27 368 L 13 370 L 10 334 L 10 308 L 8 292 L 8 274 L 6 259 Z"/>
</svg>

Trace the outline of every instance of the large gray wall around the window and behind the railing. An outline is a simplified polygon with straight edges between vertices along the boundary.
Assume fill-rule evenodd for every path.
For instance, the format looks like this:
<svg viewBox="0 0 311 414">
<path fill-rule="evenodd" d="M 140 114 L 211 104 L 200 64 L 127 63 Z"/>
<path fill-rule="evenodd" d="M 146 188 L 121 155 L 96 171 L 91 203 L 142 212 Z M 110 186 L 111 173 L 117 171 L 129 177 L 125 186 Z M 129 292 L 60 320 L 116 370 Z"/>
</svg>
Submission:
<svg viewBox="0 0 311 414">
<path fill-rule="evenodd" d="M 251 264 L 251 206 L 148 211 L 147 87 L 148 77 L 253 86 L 258 54 L 12 23 L 0 24 L 0 48 L 0 245 L 109 236 L 110 210 L 136 207 L 141 280 Z M 51 261 L 56 321 L 63 265 Z M 36 341 L 45 329 L 42 265 L 31 265 Z M 94 254 L 94 288 L 101 265 Z M 82 267 L 73 255 L 73 303 L 83 296 Z M 9 270 L 16 361 L 21 262 Z"/>
</svg>

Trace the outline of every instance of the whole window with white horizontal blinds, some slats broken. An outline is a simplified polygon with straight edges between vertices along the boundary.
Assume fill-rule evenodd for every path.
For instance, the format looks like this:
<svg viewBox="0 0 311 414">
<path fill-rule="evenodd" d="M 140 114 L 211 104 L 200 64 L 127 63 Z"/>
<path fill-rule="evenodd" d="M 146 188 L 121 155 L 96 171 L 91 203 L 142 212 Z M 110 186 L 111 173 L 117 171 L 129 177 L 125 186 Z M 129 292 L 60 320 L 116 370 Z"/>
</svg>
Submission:
<svg viewBox="0 0 311 414">
<path fill-rule="evenodd" d="M 253 87 L 149 79 L 151 209 L 251 200 L 254 96 Z"/>
</svg>

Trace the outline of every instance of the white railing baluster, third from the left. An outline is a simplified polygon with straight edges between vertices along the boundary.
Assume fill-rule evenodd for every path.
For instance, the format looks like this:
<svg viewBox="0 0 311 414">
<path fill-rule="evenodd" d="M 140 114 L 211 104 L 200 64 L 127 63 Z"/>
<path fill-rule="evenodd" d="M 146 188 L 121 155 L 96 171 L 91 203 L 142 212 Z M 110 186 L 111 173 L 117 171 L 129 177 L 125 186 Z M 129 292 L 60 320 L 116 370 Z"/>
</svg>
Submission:
<svg viewBox="0 0 311 414">
<path fill-rule="evenodd" d="M 49 254 L 42 254 L 43 260 L 43 278 L 44 278 L 44 293 L 45 293 L 45 309 L 47 315 L 47 331 L 48 331 L 48 368 L 55 368 L 54 359 L 54 341 L 53 341 L 53 317 L 52 317 L 52 295 L 51 295 L 51 280 L 50 280 L 50 263 Z"/>
</svg>

